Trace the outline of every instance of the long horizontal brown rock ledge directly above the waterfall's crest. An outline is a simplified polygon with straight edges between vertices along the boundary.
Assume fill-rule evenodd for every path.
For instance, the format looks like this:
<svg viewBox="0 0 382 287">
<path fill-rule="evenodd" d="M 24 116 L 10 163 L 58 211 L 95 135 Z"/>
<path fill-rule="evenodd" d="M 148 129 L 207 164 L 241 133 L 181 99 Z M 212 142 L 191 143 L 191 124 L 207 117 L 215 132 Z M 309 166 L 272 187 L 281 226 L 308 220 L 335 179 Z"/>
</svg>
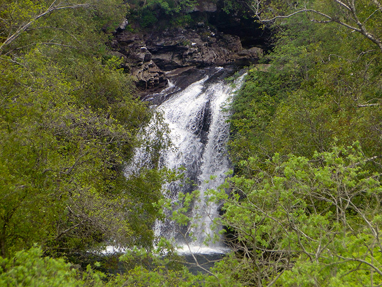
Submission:
<svg viewBox="0 0 382 287">
<path fill-rule="evenodd" d="M 172 29 L 145 36 L 152 60 L 162 70 L 181 67 L 245 65 L 255 63 L 260 48 L 243 49 L 240 38 L 211 31 L 208 27 L 184 30 Z"/>
</svg>

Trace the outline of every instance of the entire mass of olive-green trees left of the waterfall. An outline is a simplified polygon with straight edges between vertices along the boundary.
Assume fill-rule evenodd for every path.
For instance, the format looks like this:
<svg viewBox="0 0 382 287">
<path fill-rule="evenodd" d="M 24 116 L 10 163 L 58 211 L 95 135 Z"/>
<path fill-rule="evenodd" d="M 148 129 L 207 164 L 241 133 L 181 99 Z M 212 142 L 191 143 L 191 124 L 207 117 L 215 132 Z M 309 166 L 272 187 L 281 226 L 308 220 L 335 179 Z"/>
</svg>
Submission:
<svg viewBox="0 0 382 287">
<path fill-rule="evenodd" d="M 120 20 L 124 5 L 97 2 L 36 19 L 51 3 L 3 3 L 2 35 L 34 21 L 0 50 L 0 254 L 34 243 L 49 254 L 107 241 L 150 247 L 152 203 L 167 174 L 157 169 L 158 152 L 168 142 L 159 116 L 155 136 L 138 137 L 154 114 L 103 44 L 100 30 Z M 152 154 L 149 169 L 127 179 L 141 145 Z"/>
</svg>

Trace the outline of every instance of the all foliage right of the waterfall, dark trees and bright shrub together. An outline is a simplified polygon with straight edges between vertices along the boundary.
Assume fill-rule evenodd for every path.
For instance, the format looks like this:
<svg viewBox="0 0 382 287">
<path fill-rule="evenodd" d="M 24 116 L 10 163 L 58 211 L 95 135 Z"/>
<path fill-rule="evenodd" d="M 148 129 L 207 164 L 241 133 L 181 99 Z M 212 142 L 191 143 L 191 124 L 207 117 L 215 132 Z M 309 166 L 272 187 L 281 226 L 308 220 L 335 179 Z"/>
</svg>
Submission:
<svg viewBox="0 0 382 287">
<path fill-rule="evenodd" d="M 299 4 L 260 9 L 287 15 Z M 309 5 L 354 24 L 338 2 Z M 356 5 L 365 29 L 379 35 L 375 2 Z M 225 201 L 222 224 L 235 252 L 216 268 L 249 286 L 382 280 L 381 51 L 362 33 L 312 19 L 325 20 L 306 13 L 275 21 L 274 48 L 232 105 L 236 175 L 224 186 L 232 194 L 216 199 Z"/>
</svg>

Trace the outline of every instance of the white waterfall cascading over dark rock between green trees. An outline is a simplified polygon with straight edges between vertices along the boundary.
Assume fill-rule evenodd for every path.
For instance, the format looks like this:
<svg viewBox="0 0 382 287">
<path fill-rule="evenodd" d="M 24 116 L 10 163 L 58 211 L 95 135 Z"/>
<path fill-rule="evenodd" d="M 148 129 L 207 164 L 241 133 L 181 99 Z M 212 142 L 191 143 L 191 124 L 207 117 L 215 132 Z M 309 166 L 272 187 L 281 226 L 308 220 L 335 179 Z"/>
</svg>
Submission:
<svg viewBox="0 0 382 287">
<path fill-rule="evenodd" d="M 223 68 L 217 68 L 220 70 Z M 175 201 L 178 193 L 200 191 L 201 201 L 195 205 L 190 213 L 197 227 L 192 228 L 196 241 L 189 242 L 181 233 L 183 230 L 175 228 L 169 219 L 157 222 L 155 232 L 158 236 L 174 239 L 177 245 L 183 246 L 184 252 L 219 252 L 224 249 L 221 243 L 203 245 L 207 236 L 212 236 L 212 220 L 218 215 L 216 204 L 207 205 L 204 201 L 205 192 L 223 184 L 226 173 L 230 168 L 226 143 L 229 136 L 227 112 L 222 106 L 230 100 L 236 87 L 243 80 L 239 77 L 236 85 L 224 80 L 211 80 L 209 76 L 191 84 L 182 91 L 175 92 L 157 109 L 162 112 L 165 122 L 170 128 L 170 138 L 174 147 L 162 154 L 162 164 L 171 169 L 183 167 L 185 177 L 192 183 L 179 185 L 170 184 L 168 196 Z M 210 177 L 213 176 L 211 180 Z M 181 251 L 180 250 L 180 251 Z"/>
</svg>

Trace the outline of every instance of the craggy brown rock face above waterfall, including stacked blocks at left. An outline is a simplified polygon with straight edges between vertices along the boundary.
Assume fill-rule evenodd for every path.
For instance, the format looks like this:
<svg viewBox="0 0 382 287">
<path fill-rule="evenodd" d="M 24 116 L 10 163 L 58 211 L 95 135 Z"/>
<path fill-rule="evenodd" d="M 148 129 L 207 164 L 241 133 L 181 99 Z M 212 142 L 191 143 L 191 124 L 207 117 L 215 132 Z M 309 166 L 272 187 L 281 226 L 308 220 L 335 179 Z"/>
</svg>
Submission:
<svg viewBox="0 0 382 287">
<path fill-rule="evenodd" d="M 216 7 L 198 6 L 208 11 Z M 203 22 L 193 28 L 174 28 L 134 34 L 119 30 L 112 47 L 123 55 L 125 67 L 137 78 L 141 95 L 159 92 L 167 85 L 167 79 L 176 77 L 177 86 L 198 80 L 201 69 L 212 66 L 245 66 L 258 62 L 262 49 L 244 49 L 240 38 L 218 32 Z M 184 81 L 187 80 L 188 81 Z"/>
</svg>

